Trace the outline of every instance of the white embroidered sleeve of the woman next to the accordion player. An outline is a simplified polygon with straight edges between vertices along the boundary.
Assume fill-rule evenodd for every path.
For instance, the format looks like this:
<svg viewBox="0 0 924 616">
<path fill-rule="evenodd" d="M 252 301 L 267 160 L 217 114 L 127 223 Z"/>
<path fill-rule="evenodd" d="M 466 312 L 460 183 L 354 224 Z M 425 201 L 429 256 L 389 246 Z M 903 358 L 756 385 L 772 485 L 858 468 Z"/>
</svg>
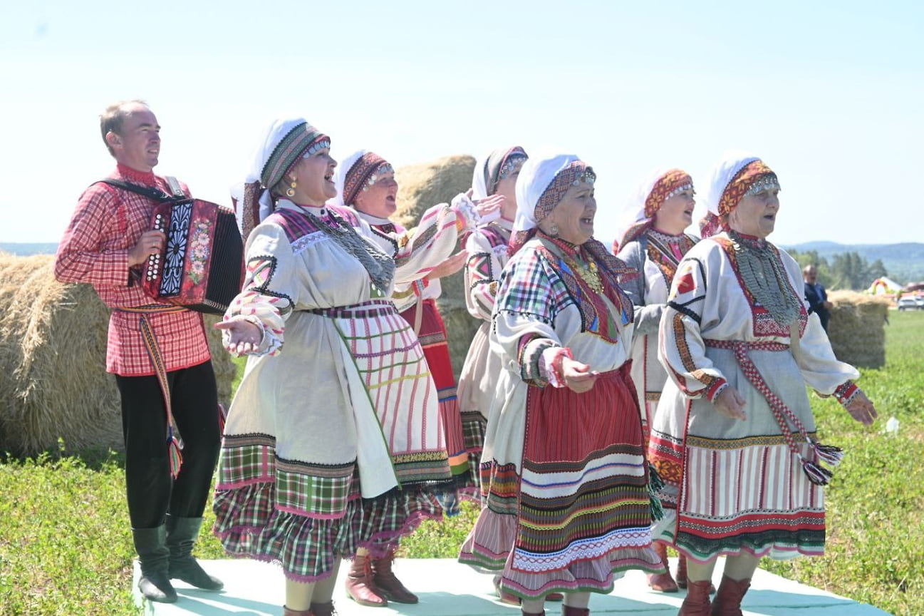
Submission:
<svg viewBox="0 0 924 616">
<path fill-rule="evenodd" d="M 251 234 L 244 287 L 225 311 L 225 320 L 243 318 L 259 326 L 262 339 L 253 355 L 274 355 L 285 341 L 286 319 L 298 297 L 295 256 L 282 229 L 264 225 Z M 278 231 L 278 236 L 274 236 Z M 230 334 L 223 334 L 225 346 Z"/>
</svg>

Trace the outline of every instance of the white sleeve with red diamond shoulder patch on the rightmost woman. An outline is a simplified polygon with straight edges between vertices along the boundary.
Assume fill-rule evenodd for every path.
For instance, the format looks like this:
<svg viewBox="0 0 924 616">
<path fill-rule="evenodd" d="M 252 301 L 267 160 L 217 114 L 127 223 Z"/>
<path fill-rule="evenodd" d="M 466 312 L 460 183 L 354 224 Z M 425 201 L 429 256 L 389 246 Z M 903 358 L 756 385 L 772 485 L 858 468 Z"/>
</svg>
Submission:
<svg viewBox="0 0 924 616">
<path fill-rule="evenodd" d="M 658 357 L 688 397 L 714 401 L 726 380 L 706 356 L 706 345 L 699 331 L 708 292 L 706 265 L 699 259 L 681 261 L 661 319 Z"/>
</svg>

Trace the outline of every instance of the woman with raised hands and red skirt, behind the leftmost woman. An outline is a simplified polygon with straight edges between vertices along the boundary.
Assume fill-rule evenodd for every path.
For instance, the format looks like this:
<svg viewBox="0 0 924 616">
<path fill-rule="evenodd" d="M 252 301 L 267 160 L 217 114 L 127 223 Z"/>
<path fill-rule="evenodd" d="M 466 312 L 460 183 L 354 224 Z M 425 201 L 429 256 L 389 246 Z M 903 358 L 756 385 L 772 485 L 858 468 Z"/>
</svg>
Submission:
<svg viewBox="0 0 924 616">
<path fill-rule="evenodd" d="M 386 252 L 395 259 L 395 277 L 402 283 L 395 285 L 392 300 L 418 333 L 437 390 L 449 466 L 456 481 L 464 485 L 468 465 L 456 402 L 456 384 L 449 362 L 445 326 L 433 297 L 439 295 L 439 277 L 456 271 L 458 265 L 454 261 L 461 265 L 457 257 L 447 262 L 460 234 L 475 228 L 482 215 L 488 216 L 498 209 L 495 202 L 499 200 L 472 203 L 468 196 L 458 195 L 453 203 L 440 203 L 427 210 L 420 217 L 417 228 L 407 232 L 401 225 L 389 220 L 397 207 L 398 185 L 395 169 L 378 154 L 359 150 L 347 156 L 334 172 L 334 184 L 337 196 L 329 203 L 352 208 L 359 219 L 368 223 L 375 237 L 388 249 Z M 434 289 L 436 294 L 432 296 Z M 420 305 L 423 307 L 422 319 L 416 323 L 414 311 Z M 454 485 L 438 487 L 436 492 L 438 496 L 452 495 L 441 499 L 441 504 L 445 513 L 456 513 L 457 509 L 446 507 L 447 501 L 455 503 Z M 371 607 L 387 605 L 388 601 L 418 602 L 417 596 L 407 590 L 392 572 L 396 548 L 395 539 L 383 558 L 369 559 L 370 567 L 364 567 L 368 555 L 363 548 L 359 549 L 359 558 L 354 559 L 346 578 L 346 592 L 350 598 Z"/>
</svg>

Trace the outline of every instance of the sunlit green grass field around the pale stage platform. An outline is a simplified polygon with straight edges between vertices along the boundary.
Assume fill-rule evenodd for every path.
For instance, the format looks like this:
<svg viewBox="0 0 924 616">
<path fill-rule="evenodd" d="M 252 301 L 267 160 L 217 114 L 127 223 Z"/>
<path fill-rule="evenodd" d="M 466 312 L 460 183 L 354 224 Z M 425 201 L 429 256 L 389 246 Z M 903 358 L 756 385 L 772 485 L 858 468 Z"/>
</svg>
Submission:
<svg viewBox="0 0 924 616">
<path fill-rule="evenodd" d="M 845 448 L 828 488 L 827 556 L 764 561 L 773 573 L 900 616 L 924 614 L 924 313 L 892 313 L 887 363 L 864 370 L 873 428 L 813 398 L 825 442 Z M 896 435 L 881 433 L 896 417 Z M 0 462 L 0 614 L 133 614 L 134 552 L 121 457 L 59 451 Z M 424 524 L 404 543 L 411 558 L 453 557 L 475 511 Z M 207 512 L 207 516 L 211 513 Z M 223 558 L 203 524 L 197 555 Z"/>
</svg>

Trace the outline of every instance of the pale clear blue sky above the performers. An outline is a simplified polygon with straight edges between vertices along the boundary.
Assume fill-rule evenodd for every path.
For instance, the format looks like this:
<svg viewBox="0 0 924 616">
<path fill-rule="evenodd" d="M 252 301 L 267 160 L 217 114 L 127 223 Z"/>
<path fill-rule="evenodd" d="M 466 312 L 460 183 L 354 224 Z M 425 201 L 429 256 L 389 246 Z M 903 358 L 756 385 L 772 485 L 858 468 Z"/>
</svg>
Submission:
<svg viewBox="0 0 924 616">
<path fill-rule="evenodd" d="M 160 165 L 228 203 L 271 117 L 395 166 L 552 145 L 597 171 L 610 240 L 638 181 L 704 192 L 724 150 L 780 177 L 771 239 L 924 241 L 924 3 L 0 0 L 0 241 L 57 241 L 146 100 Z M 701 208 L 698 206 L 696 218 Z"/>
</svg>

